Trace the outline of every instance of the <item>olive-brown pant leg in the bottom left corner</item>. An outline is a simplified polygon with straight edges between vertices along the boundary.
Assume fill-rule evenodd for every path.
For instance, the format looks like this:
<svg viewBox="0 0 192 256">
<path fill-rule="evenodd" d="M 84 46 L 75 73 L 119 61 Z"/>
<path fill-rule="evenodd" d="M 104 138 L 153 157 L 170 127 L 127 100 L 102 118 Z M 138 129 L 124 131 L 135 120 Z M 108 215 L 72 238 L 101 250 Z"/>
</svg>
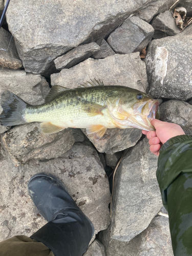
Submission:
<svg viewBox="0 0 192 256">
<path fill-rule="evenodd" d="M 26 236 L 15 236 L 0 243 L 1 256 L 54 256 L 43 243 Z"/>
</svg>

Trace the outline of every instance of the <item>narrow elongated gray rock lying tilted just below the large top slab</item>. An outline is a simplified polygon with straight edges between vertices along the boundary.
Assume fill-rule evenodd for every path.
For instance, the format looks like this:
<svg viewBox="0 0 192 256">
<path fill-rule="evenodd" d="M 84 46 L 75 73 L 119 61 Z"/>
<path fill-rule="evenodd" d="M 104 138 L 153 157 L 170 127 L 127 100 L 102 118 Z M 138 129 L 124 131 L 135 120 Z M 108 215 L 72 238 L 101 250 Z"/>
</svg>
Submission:
<svg viewBox="0 0 192 256">
<path fill-rule="evenodd" d="M 63 68 L 69 69 L 79 62 L 89 58 L 93 53 L 98 52 L 100 47 L 96 42 L 90 42 L 90 44 L 80 45 L 68 53 L 56 58 L 54 60 L 55 67 L 58 70 Z"/>
</svg>

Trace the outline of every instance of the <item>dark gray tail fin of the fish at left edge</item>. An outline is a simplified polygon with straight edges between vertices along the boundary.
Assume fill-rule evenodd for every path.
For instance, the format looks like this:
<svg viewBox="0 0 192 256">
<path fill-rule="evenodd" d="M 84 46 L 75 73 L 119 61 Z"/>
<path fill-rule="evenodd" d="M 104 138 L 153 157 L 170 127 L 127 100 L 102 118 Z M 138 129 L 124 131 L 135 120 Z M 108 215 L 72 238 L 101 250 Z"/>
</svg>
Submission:
<svg viewBox="0 0 192 256">
<path fill-rule="evenodd" d="M 0 123 L 4 126 L 12 126 L 27 123 L 24 119 L 24 111 L 27 103 L 8 90 L 1 95 L 3 112 L 0 115 Z"/>
</svg>

